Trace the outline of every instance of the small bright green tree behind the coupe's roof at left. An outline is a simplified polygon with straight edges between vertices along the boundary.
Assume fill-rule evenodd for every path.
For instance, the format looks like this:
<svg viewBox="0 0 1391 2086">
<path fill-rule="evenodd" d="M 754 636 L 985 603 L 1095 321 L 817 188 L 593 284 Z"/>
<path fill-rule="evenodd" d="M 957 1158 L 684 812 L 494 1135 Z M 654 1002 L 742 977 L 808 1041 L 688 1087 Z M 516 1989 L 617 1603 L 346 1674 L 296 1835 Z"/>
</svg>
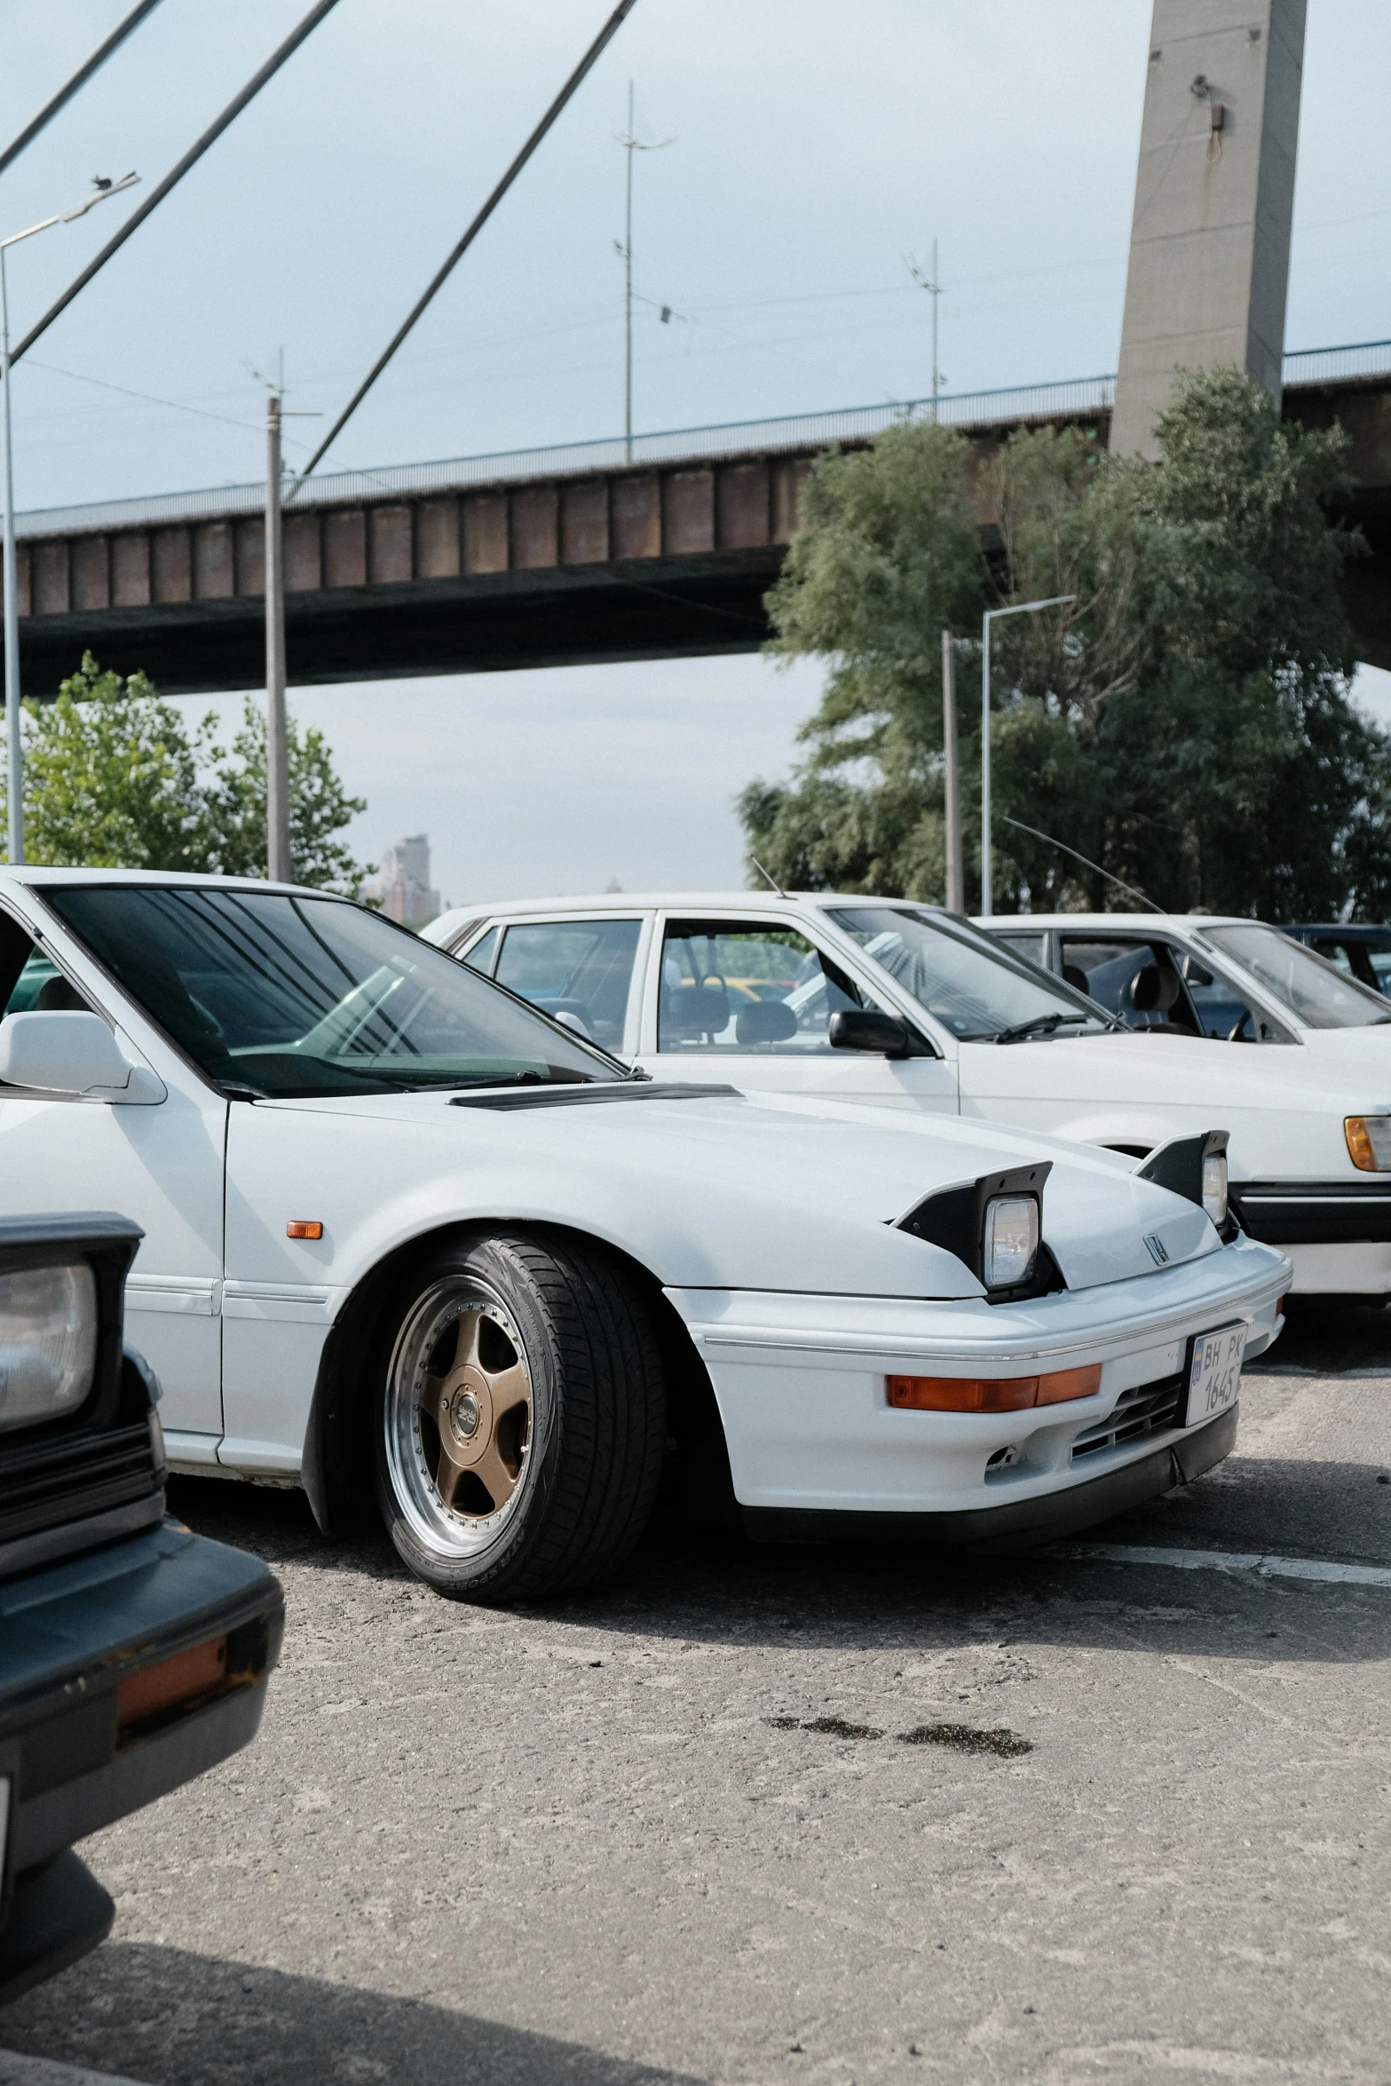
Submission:
<svg viewBox="0 0 1391 2086">
<path fill-rule="evenodd" d="M 29 862 L 265 876 L 265 718 L 248 699 L 231 755 L 215 732 L 83 653 L 54 703 L 23 709 Z M 355 893 L 367 870 L 338 834 L 367 805 L 319 730 L 292 722 L 288 751 L 296 882 Z"/>
</svg>

